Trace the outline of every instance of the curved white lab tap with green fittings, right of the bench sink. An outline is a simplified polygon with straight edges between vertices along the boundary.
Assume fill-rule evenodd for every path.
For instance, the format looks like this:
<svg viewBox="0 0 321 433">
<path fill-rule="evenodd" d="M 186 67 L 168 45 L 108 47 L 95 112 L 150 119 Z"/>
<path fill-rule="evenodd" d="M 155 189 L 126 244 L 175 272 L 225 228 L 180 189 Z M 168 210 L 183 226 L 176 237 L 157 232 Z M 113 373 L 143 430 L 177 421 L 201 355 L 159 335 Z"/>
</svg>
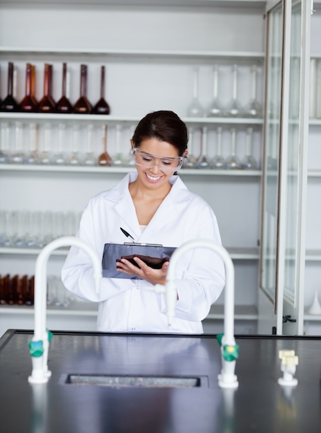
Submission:
<svg viewBox="0 0 321 433">
<path fill-rule="evenodd" d="M 225 294 L 224 294 L 224 334 L 222 335 L 221 354 L 222 371 L 219 375 L 219 386 L 222 388 L 236 388 L 238 386 L 237 376 L 235 376 L 235 358 L 237 358 L 238 346 L 234 339 L 234 266 L 233 261 L 222 246 L 217 245 L 209 239 L 194 239 L 184 243 L 177 248 L 169 261 L 166 277 L 166 308 L 168 324 L 171 326 L 175 317 L 175 304 L 177 301 L 177 290 L 175 286 L 175 268 L 177 261 L 188 250 L 194 248 L 208 248 L 217 252 L 224 261 L 226 271 Z M 155 288 L 161 292 L 161 288 Z M 236 354 L 236 356 L 235 356 Z"/>
</svg>

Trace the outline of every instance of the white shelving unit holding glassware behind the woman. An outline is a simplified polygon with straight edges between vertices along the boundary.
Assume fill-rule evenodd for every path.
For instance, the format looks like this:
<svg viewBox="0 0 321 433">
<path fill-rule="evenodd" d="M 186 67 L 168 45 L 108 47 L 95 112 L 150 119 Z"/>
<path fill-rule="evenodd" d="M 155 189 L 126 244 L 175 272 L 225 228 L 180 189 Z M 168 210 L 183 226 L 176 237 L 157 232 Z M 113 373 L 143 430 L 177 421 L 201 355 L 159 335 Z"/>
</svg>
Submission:
<svg viewBox="0 0 321 433">
<path fill-rule="evenodd" d="M 1 69 L 6 70 L 8 61 L 16 62 L 19 66 L 19 79 L 17 93 L 19 100 L 23 96 L 24 65 L 34 62 L 37 65 L 37 98 L 42 93 L 44 62 L 54 65 L 53 95 L 55 100 L 61 95 L 61 63 L 68 62 L 72 72 L 70 95 L 74 102 L 79 93 L 79 64 L 89 64 L 88 98 L 95 101 L 99 94 L 97 70 L 104 64 L 106 66 L 107 89 L 106 99 L 112 112 L 110 116 L 95 115 L 59 115 L 41 113 L 0 113 L 0 122 L 30 122 L 43 125 L 51 123 L 57 125 L 62 122 L 66 125 L 100 125 L 108 124 L 111 135 L 108 138 L 108 149 L 113 153 L 115 146 L 113 129 L 121 125 L 124 130 L 122 150 L 129 150 L 128 129 L 136 125 L 144 114 L 153 109 L 173 109 L 186 122 L 188 127 L 201 129 L 208 127 L 208 149 L 211 156 L 215 153 L 215 130 L 222 127 L 226 131 L 224 153 L 228 155 L 228 130 L 236 127 L 241 138 L 239 151 L 244 151 L 244 131 L 246 127 L 255 128 L 255 156 L 260 160 L 262 156 L 262 119 L 261 118 L 187 118 L 186 108 L 192 98 L 193 66 L 200 66 L 200 100 L 206 107 L 212 98 L 212 68 L 217 63 L 222 68 L 220 97 L 226 104 L 231 98 L 231 66 L 236 62 L 240 65 L 240 99 L 245 104 L 250 95 L 250 73 L 252 64 L 260 67 L 260 80 L 258 86 L 260 99 L 263 93 L 263 66 L 264 66 L 264 3 L 262 1 L 233 1 L 222 5 L 217 1 L 178 1 L 170 2 L 166 8 L 159 6 L 157 1 L 142 2 L 139 6 L 124 8 L 116 3 L 110 7 L 110 1 L 90 6 L 90 21 L 87 25 L 95 23 L 97 37 L 88 37 L 86 42 L 79 33 L 79 38 L 69 39 L 70 30 L 66 31 L 64 40 L 61 35 L 52 38 L 52 29 L 43 24 L 43 17 L 52 12 L 52 19 L 59 15 L 59 9 L 48 4 L 46 8 L 39 2 L 33 5 L 34 19 L 39 23 L 39 34 L 43 35 L 41 41 L 33 35 L 23 37 L 25 29 L 21 25 L 12 37 L 4 20 L 18 19 L 19 8 L 27 17 L 30 13 L 28 6 L 19 5 L 19 8 L 1 4 L 3 18 L 0 17 L 0 26 L 3 21 L 3 46 L 0 46 Z M 201 4 L 202 3 L 202 4 Z M 217 6 L 220 6 L 217 8 Z M 64 5 L 63 19 L 72 15 L 72 22 L 77 32 L 77 22 L 86 20 L 88 8 Z M 248 12 L 251 12 L 248 13 Z M 71 15 L 70 15 L 71 14 Z M 62 16 L 62 15 L 61 15 Z M 122 20 L 119 21 L 121 16 Z M 118 21 L 117 21 L 118 19 Z M 175 21 L 175 33 L 171 30 L 171 22 Z M 7 21 L 6 21 L 7 22 Z M 157 22 L 157 25 L 155 25 Z M 101 27 L 99 27 L 101 23 Z M 191 23 L 194 24 L 191 27 Z M 80 25 L 80 24 L 79 24 Z M 122 28 L 122 26 L 125 26 Z M 133 27 L 132 27 L 133 26 Z M 147 26 L 147 27 L 146 27 Z M 164 32 L 164 26 L 167 31 Z M 133 32 L 131 31 L 133 28 Z M 237 37 L 231 37 L 231 29 L 235 29 Z M 249 29 L 254 29 L 249 31 Z M 89 30 L 89 29 L 88 29 Z M 135 30 L 135 31 L 134 31 Z M 146 37 L 146 31 L 151 37 Z M 257 32 L 253 37 L 253 31 Z M 89 32 L 90 33 L 90 32 Z M 87 34 L 89 34 L 87 33 Z M 92 32 L 95 35 L 95 32 Z M 99 35 L 104 34 L 104 37 Z M 117 35 L 117 37 L 115 37 Z M 178 37 L 179 35 L 179 37 Z M 192 40 L 193 39 L 193 40 Z M 67 46 L 67 48 L 66 48 Z M 1 81 L 3 82 L 2 74 Z M 2 83 L 1 95 L 5 93 Z M 108 131 L 109 131 L 108 129 Z M 198 140 L 198 139 L 197 139 Z M 199 141 L 193 149 L 199 150 Z M 97 151 L 97 149 L 96 149 Z M 50 210 L 77 210 L 81 211 L 90 196 L 101 190 L 108 189 L 117 183 L 120 178 L 130 171 L 130 167 L 86 167 L 70 165 L 28 165 L 28 164 L 1 164 L 0 187 L 6 185 L 6 192 L 0 199 L 1 209 L 17 210 L 31 209 Z M 235 319 L 242 333 L 251 331 L 255 333 L 257 322 L 257 281 L 259 252 L 257 240 L 260 232 L 260 190 L 261 170 L 214 170 L 214 169 L 182 169 L 180 172 L 184 183 L 189 189 L 197 192 L 210 203 L 220 225 L 224 246 L 231 252 L 235 263 L 237 275 L 237 312 Z M 23 190 L 23 188 L 25 190 Z M 37 192 L 33 194 L 32 191 Z M 81 192 L 81 194 L 79 194 Z M 50 194 L 50 198 L 48 197 Z M 231 202 L 226 201 L 226 196 Z M 72 200 L 70 200 L 72 197 Z M 238 221 L 235 222 L 235 215 Z M 249 224 L 249 219 L 251 223 Z M 7 271 L 17 273 L 18 262 L 26 261 L 30 268 L 39 253 L 39 249 L 31 248 L 0 248 L 0 273 Z M 59 265 L 63 263 L 66 251 L 57 250 L 53 253 L 53 265 L 59 273 Z M 6 268 L 6 269 L 5 269 Z M 206 329 L 220 331 L 222 328 L 222 302 L 211 309 L 208 315 Z M 244 305 L 246 302 L 246 305 Z M 94 326 L 95 307 L 79 302 L 73 308 L 53 308 L 48 311 L 48 317 L 55 316 L 53 329 L 77 329 L 84 326 L 81 315 L 88 317 L 90 322 L 86 326 Z M 16 308 L 12 306 L 0 307 L 0 317 L 28 317 L 30 322 L 32 308 Z M 79 323 L 70 323 L 70 317 L 79 319 Z M 60 318 L 60 322 L 59 322 Z M 206 321 L 207 322 L 207 321 Z M 215 322 L 215 323 L 214 323 Z M 217 322 L 217 323 L 216 323 Z M 243 323 L 244 322 L 244 326 Z M 22 322 L 21 322 L 22 323 Z M 26 326 L 26 321 L 23 322 Z M 32 326 L 32 325 L 30 325 Z M 72 328 L 75 326 L 75 328 Z M 14 326 L 19 327 L 19 326 Z M 83 328 L 78 328 L 79 330 Z M 86 330 L 86 329 L 83 329 Z M 0 329 L 1 332 L 1 329 Z"/>
</svg>

